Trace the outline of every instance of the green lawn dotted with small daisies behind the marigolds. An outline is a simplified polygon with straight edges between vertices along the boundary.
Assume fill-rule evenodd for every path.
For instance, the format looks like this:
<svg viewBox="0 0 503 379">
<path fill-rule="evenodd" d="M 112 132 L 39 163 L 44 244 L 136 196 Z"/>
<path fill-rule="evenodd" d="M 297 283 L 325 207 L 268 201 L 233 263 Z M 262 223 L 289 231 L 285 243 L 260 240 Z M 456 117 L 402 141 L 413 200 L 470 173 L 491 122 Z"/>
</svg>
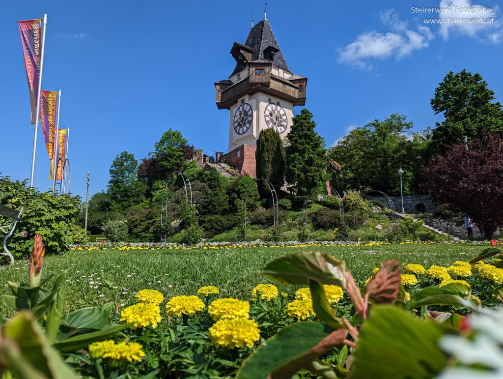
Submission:
<svg viewBox="0 0 503 379">
<path fill-rule="evenodd" d="M 380 245 L 316 247 L 346 261 L 357 280 L 365 280 L 379 262 L 396 259 L 402 265 L 421 263 L 449 265 L 469 260 L 487 246 L 474 245 Z M 310 248 L 311 250 L 314 248 Z M 101 250 L 72 251 L 44 258 L 44 276 L 52 270 L 68 270 L 71 286 L 68 310 L 103 305 L 112 301 L 118 307 L 129 305 L 134 292 L 142 288 L 161 291 L 166 297 L 194 294 L 201 285 L 216 285 L 221 296 L 247 299 L 251 289 L 267 279 L 260 270 L 271 260 L 300 248 L 235 248 L 219 250 Z M 306 250 L 306 248 L 304 248 Z M 6 281 L 27 281 L 28 261 L 0 270 L 0 293 L 10 293 Z M 281 287 L 293 294 L 294 288 Z M 3 301 L 0 314 L 10 315 Z"/>
</svg>

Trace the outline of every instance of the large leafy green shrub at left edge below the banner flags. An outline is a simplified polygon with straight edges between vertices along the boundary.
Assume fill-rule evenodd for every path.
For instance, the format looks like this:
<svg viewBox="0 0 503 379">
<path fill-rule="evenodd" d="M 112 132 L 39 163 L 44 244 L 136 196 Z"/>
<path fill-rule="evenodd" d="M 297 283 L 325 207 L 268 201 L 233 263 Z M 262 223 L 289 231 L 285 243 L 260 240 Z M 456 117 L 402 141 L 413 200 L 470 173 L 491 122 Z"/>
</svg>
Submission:
<svg viewBox="0 0 503 379">
<path fill-rule="evenodd" d="M 24 207 L 16 231 L 9 239 L 9 250 L 15 257 L 26 256 L 32 251 L 35 234 L 40 234 L 47 254 L 65 251 L 73 243 L 73 237 L 68 231 L 77 219 L 80 198 L 70 195 L 54 196 L 50 192 L 38 192 L 26 186 L 26 181 L 14 182 L 8 177 L 0 177 L 2 204 L 17 210 Z M 2 225 L 10 221 L 0 217 Z"/>
</svg>

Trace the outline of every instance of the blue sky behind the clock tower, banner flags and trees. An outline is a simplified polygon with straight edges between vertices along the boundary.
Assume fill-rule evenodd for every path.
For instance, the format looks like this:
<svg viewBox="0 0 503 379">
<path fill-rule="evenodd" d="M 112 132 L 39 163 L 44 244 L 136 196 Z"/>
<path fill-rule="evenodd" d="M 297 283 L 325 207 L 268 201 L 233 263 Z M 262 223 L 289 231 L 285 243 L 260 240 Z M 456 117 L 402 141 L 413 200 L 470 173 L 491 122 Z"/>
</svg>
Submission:
<svg viewBox="0 0 503 379">
<path fill-rule="evenodd" d="M 449 6 L 454 13 L 412 11 Z M 494 6 L 494 13 L 464 11 L 483 6 Z M 71 130 L 72 192 L 85 196 L 86 171 L 91 193 L 106 189 L 120 151 L 139 161 L 170 127 L 206 154 L 226 150 L 229 111 L 217 109 L 213 83 L 231 73 L 232 43 L 244 43 L 251 12 L 258 22 L 263 10 L 261 1 L 5 2 L 0 172 L 30 176 L 33 126 L 18 20 L 48 15 L 42 88 L 62 90 L 60 127 Z M 484 24 L 423 21 L 481 15 Z M 441 118 L 430 99 L 451 70 L 480 72 L 503 102 L 496 0 L 269 0 L 267 16 L 288 65 L 309 79 L 305 107 L 327 146 L 394 112 L 405 114 L 415 129 L 434 126 Z M 41 130 L 37 151 L 35 186 L 45 190 L 51 182 Z"/>
</svg>

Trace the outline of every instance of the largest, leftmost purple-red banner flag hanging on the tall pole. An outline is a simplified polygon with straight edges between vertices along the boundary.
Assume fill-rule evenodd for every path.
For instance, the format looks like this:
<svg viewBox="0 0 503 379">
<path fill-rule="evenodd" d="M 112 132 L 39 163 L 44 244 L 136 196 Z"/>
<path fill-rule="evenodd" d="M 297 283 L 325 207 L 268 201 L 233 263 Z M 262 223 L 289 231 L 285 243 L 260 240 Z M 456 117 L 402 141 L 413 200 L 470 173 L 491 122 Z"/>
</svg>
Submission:
<svg viewBox="0 0 503 379">
<path fill-rule="evenodd" d="M 42 19 L 18 21 L 18 24 L 30 93 L 31 123 L 35 124 L 42 50 Z"/>
</svg>

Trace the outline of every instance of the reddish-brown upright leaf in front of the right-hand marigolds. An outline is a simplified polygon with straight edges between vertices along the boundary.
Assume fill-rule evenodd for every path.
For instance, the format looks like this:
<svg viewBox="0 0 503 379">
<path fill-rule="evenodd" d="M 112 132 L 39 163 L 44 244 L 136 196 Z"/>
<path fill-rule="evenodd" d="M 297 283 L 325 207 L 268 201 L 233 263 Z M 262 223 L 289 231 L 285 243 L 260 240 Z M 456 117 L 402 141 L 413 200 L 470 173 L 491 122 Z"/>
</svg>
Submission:
<svg viewBox="0 0 503 379">
<path fill-rule="evenodd" d="M 394 304 L 400 285 L 400 264 L 395 260 L 384 261 L 367 284 L 367 296 L 376 304 Z"/>
</svg>

